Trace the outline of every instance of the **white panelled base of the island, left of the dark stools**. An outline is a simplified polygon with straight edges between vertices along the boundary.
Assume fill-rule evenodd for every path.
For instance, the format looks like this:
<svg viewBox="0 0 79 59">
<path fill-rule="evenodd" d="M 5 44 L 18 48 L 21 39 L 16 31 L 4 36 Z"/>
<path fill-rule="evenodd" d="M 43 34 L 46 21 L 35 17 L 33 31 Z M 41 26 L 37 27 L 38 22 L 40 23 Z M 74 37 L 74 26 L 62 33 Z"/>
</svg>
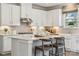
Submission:
<svg viewBox="0 0 79 59">
<path fill-rule="evenodd" d="M 32 41 L 12 39 L 12 56 L 32 56 Z"/>
</svg>

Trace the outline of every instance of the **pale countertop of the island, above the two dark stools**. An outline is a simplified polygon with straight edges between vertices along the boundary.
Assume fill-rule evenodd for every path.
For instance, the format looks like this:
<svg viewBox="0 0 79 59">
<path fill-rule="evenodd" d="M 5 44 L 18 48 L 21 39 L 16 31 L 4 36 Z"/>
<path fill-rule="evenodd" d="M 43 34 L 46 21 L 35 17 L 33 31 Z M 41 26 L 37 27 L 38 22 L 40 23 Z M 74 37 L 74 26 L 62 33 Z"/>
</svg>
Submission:
<svg viewBox="0 0 79 59">
<path fill-rule="evenodd" d="M 33 34 L 27 34 L 27 35 L 13 35 L 9 37 L 13 39 L 22 39 L 22 40 L 39 40 L 39 39 L 49 39 L 54 37 L 65 37 L 65 36 L 70 36 L 70 35 L 60 34 L 60 35 L 48 35 L 44 37 L 35 37 Z"/>
</svg>

